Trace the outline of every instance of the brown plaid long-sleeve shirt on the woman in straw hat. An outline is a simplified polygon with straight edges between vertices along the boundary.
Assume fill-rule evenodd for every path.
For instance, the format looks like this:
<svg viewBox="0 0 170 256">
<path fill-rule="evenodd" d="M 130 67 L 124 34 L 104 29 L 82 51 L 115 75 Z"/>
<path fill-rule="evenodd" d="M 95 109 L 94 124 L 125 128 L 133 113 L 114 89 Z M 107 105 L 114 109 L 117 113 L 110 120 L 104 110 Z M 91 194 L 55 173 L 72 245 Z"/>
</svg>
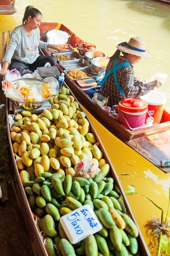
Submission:
<svg viewBox="0 0 170 256">
<path fill-rule="evenodd" d="M 127 59 L 123 58 L 123 56 L 119 56 L 117 65 L 122 62 L 127 62 Z M 112 68 L 113 60 L 110 60 L 106 67 L 106 73 L 108 73 L 108 71 Z M 127 67 L 121 67 L 119 70 L 117 70 L 117 81 L 122 88 L 124 95 L 119 93 L 116 88 L 114 74 L 112 73 L 110 76 L 108 76 L 100 92 L 100 94 L 102 94 L 102 96 L 105 98 L 109 96 L 108 106 L 112 108 L 113 105 L 118 105 L 118 103 L 125 98 L 138 98 L 139 96 L 148 93 L 150 90 L 153 90 L 156 86 L 155 81 L 144 83 L 144 79 L 139 79 L 135 77 L 134 74 L 135 72 L 132 64 Z"/>
</svg>

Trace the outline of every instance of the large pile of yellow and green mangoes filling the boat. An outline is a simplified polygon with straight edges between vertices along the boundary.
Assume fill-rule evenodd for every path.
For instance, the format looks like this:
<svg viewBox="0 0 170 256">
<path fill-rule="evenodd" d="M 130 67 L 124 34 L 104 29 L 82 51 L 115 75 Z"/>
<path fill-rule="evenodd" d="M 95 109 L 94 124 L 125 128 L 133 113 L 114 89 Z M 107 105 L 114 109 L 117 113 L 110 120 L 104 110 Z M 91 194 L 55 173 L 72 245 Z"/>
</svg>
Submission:
<svg viewBox="0 0 170 256">
<path fill-rule="evenodd" d="M 17 114 L 11 130 L 20 178 L 32 212 L 41 218 L 48 255 L 139 255 L 137 227 L 122 212 L 118 190 L 107 177 L 110 166 L 90 132 L 85 113 L 65 87 L 50 103 L 52 108 L 39 116 L 29 111 Z M 74 177 L 75 165 L 85 158 L 99 167 L 99 174 L 89 179 Z M 91 206 L 103 228 L 72 245 L 59 219 L 85 204 Z"/>
</svg>

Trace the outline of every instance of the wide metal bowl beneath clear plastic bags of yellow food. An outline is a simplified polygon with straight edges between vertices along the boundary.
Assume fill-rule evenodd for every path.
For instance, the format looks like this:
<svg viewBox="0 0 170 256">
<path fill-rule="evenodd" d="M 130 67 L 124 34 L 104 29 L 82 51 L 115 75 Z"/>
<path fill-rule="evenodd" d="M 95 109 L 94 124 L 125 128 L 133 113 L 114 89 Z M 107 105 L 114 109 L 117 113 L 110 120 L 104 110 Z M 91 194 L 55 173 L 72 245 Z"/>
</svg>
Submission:
<svg viewBox="0 0 170 256">
<path fill-rule="evenodd" d="M 22 79 L 17 79 L 15 81 L 13 81 L 12 83 L 16 84 L 17 81 L 25 81 L 27 84 L 32 83 L 32 82 L 41 82 L 43 84 L 45 82 L 41 79 L 22 78 Z M 30 102 L 30 103 L 19 101 L 19 100 L 14 100 L 14 99 L 11 99 L 11 98 L 8 98 L 8 99 L 10 99 L 10 101 L 15 106 L 17 106 L 17 108 L 26 109 L 26 110 L 34 110 L 34 109 L 41 108 L 44 105 L 46 105 L 50 98 L 51 98 L 51 96 L 49 96 L 48 98 L 46 98 L 46 99 L 44 99 L 40 102 Z"/>
</svg>

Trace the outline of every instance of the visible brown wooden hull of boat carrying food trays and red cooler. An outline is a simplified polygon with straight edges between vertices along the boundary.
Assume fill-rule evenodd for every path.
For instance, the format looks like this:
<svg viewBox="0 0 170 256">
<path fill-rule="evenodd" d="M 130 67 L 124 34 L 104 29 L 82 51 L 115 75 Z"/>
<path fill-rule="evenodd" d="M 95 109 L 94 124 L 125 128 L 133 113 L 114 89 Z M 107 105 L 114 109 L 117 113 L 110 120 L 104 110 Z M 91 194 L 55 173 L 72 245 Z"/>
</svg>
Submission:
<svg viewBox="0 0 170 256">
<path fill-rule="evenodd" d="M 71 32 L 70 29 L 65 27 L 62 23 L 41 23 L 40 34 L 47 30 L 57 29 L 68 32 L 70 38 L 68 44 L 75 47 L 75 44 L 82 41 L 76 34 Z M 43 40 L 43 38 L 42 38 Z M 44 49 L 42 50 L 45 55 L 51 53 Z M 57 67 L 62 72 L 62 67 L 57 63 Z M 118 137 L 122 142 L 133 148 L 163 172 L 170 172 L 170 167 L 161 167 L 161 160 L 170 160 L 170 153 L 167 148 L 170 146 L 170 112 L 164 109 L 161 123 L 153 125 L 148 128 L 142 128 L 135 131 L 127 129 L 124 125 L 118 122 L 111 115 L 102 110 L 96 105 L 91 98 L 79 87 L 76 81 L 70 80 L 65 76 L 65 82 L 77 96 L 79 102 L 111 133 Z"/>
</svg>

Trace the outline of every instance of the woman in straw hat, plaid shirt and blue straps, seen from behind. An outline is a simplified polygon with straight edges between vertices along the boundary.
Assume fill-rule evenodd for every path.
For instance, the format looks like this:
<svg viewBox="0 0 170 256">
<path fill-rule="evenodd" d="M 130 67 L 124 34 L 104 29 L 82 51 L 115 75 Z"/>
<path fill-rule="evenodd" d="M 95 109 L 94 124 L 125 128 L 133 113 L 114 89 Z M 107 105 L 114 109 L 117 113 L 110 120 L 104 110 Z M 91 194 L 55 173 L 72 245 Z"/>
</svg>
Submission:
<svg viewBox="0 0 170 256">
<path fill-rule="evenodd" d="M 155 87 L 160 87 L 158 80 L 146 82 L 134 76 L 133 64 L 141 57 L 151 59 L 146 52 L 145 42 L 141 38 L 130 38 L 129 42 L 118 44 L 117 50 L 106 67 L 106 75 L 100 82 L 100 93 L 108 97 L 108 105 L 117 105 L 125 98 L 138 98 Z M 123 56 L 120 56 L 120 52 Z"/>
</svg>

